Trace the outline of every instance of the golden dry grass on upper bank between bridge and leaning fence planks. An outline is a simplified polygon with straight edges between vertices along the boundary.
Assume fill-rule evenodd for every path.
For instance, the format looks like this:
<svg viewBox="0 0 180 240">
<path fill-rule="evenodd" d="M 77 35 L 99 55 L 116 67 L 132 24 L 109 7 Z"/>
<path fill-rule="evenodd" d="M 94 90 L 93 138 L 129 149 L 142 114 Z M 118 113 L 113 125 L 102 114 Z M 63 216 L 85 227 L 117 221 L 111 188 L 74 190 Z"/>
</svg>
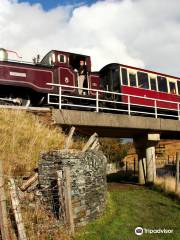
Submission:
<svg viewBox="0 0 180 240">
<path fill-rule="evenodd" d="M 60 128 L 42 124 L 40 117 L 18 110 L 0 110 L 0 152 L 6 174 L 20 176 L 37 166 L 41 151 L 61 149 Z"/>
</svg>

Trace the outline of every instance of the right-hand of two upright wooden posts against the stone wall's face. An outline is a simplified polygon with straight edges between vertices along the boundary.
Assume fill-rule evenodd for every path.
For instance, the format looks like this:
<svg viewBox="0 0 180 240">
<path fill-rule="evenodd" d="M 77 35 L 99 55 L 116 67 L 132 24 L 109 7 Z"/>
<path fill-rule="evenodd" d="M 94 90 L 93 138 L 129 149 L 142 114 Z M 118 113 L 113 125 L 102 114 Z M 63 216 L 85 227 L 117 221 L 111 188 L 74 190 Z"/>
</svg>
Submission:
<svg viewBox="0 0 180 240">
<path fill-rule="evenodd" d="M 66 206 L 66 216 L 70 227 L 71 235 L 74 235 L 74 218 L 72 211 L 72 200 L 71 200 L 71 176 L 70 168 L 64 168 L 64 179 L 65 179 L 65 206 Z"/>
</svg>

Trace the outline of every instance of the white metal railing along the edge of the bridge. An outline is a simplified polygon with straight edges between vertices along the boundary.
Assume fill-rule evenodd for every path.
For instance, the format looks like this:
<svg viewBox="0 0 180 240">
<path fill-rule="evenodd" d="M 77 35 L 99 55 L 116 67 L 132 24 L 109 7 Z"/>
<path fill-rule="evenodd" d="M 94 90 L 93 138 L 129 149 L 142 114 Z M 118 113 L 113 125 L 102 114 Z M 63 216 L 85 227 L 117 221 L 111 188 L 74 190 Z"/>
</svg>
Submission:
<svg viewBox="0 0 180 240">
<path fill-rule="evenodd" d="M 149 115 L 155 118 L 180 120 L 180 102 L 62 84 L 48 83 L 48 85 L 58 89 L 57 93 L 48 93 L 48 104 L 55 105 L 59 109 L 119 112 L 128 115 Z M 73 90 L 71 94 L 69 93 L 70 89 Z M 82 95 L 77 94 L 80 89 L 83 91 Z M 87 93 L 91 93 L 91 95 Z M 140 101 L 141 103 L 137 103 Z"/>
</svg>

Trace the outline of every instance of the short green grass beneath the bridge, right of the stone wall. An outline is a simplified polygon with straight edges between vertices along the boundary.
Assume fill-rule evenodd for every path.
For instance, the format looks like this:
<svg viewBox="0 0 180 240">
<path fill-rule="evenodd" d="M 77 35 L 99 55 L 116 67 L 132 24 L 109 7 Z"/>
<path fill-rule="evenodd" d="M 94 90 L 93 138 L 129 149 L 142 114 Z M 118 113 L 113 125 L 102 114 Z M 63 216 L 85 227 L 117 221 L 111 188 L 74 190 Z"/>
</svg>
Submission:
<svg viewBox="0 0 180 240">
<path fill-rule="evenodd" d="M 179 240 L 180 204 L 150 189 L 117 189 L 109 192 L 103 217 L 81 229 L 75 240 Z M 173 234 L 136 236 L 137 227 L 173 229 Z"/>
</svg>

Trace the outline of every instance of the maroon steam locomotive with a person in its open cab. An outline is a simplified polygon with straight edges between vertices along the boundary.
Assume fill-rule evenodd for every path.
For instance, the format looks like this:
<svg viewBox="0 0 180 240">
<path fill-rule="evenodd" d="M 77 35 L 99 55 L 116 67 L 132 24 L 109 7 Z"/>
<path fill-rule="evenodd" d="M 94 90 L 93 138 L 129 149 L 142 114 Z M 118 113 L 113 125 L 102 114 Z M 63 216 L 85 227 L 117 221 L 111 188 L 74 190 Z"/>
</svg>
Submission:
<svg viewBox="0 0 180 240">
<path fill-rule="evenodd" d="M 57 87 L 47 85 L 56 83 L 78 86 L 77 71 L 80 60 L 84 60 L 88 70 L 88 87 L 98 89 L 97 73 L 91 72 L 89 56 L 52 50 L 41 62 L 25 63 L 8 59 L 8 50 L 0 49 L 0 99 L 17 104 L 42 105 L 47 103 L 47 93 L 56 93 Z M 77 89 L 63 88 L 69 94 L 78 94 Z M 89 95 L 95 94 L 90 91 Z"/>
</svg>

